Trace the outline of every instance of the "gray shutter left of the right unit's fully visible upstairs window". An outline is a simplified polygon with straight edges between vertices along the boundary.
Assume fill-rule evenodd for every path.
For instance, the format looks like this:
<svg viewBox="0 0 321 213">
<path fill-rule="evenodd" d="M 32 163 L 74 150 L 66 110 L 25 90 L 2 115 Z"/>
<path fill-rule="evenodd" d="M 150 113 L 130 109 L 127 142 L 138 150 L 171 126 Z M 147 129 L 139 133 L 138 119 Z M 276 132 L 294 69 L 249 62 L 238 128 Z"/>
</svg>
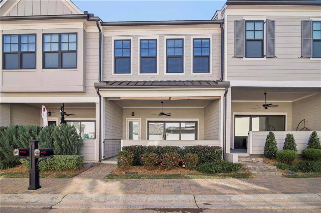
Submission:
<svg viewBox="0 0 321 213">
<path fill-rule="evenodd" d="M 235 58 L 245 57 L 245 20 L 234 21 L 234 55 Z"/>
</svg>

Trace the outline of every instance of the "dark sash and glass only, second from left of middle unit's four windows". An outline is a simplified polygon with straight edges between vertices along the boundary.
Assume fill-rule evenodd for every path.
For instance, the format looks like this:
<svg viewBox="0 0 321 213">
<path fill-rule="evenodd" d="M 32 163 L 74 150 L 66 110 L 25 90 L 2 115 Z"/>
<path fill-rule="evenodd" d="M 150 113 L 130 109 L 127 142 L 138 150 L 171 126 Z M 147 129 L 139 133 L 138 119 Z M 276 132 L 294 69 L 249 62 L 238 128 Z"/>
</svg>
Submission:
<svg viewBox="0 0 321 213">
<path fill-rule="evenodd" d="M 156 73 L 156 39 L 140 40 L 140 73 Z"/>
</svg>

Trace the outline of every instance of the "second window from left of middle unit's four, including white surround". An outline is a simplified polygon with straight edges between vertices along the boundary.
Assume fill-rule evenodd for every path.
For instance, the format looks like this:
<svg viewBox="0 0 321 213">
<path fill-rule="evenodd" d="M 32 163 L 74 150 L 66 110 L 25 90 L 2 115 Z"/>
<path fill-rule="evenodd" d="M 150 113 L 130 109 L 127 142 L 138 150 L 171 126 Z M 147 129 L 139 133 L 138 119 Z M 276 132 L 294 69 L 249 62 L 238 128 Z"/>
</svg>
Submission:
<svg viewBox="0 0 321 213">
<path fill-rule="evenodd" d="M 159 74 L 159 36 L 138 37 L 138 75 Z"/>
</svg>

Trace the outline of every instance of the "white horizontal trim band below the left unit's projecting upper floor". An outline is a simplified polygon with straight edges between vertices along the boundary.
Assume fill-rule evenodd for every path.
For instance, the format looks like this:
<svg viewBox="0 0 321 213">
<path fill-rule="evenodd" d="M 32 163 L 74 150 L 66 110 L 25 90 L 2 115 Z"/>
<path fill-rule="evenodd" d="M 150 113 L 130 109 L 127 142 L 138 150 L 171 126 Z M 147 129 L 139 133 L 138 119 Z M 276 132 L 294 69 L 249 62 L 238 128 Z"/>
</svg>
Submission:
<svg viewBox="0 0 321 213">
<path fill-rule="evenodd" d="M 97 97 L 1 97 L 0 103 L 96 103 Z"/>
</svg>

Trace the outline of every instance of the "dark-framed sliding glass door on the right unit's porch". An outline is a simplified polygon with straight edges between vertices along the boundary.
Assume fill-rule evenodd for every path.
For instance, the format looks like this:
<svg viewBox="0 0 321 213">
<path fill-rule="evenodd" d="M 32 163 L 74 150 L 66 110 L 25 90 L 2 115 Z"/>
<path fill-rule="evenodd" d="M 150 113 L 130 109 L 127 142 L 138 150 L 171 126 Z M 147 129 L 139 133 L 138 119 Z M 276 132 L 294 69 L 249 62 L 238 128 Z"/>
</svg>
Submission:
<svg viewBox="0 0 321 213">
<path fill-rule="evenodd" d="M 248 131 L 285 131 L 285 115 L 236 115 L 234 149 L 247 148 Z"/>
</svg>

